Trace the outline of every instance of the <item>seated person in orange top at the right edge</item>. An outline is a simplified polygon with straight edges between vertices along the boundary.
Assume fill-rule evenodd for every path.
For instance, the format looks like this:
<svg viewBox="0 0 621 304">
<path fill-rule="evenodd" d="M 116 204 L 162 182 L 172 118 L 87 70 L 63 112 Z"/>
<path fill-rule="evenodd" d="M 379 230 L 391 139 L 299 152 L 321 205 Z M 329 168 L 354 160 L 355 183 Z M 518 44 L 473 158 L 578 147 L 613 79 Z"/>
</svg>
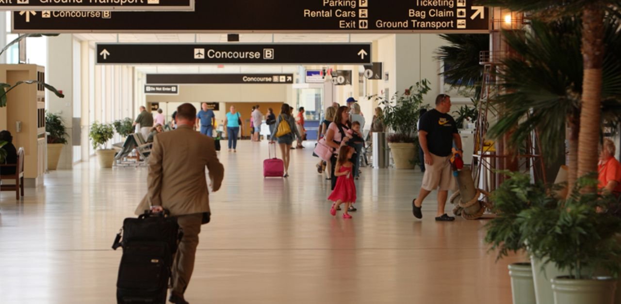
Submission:
<svg viewBox="0 0 621 304">
<path fill-rule="evenodd" d="M 615 159 L 615 143 L 606 138 L 599 154 L 597 188 L 607 193 L 621 194 L 621 163 Z"/>
</svg>

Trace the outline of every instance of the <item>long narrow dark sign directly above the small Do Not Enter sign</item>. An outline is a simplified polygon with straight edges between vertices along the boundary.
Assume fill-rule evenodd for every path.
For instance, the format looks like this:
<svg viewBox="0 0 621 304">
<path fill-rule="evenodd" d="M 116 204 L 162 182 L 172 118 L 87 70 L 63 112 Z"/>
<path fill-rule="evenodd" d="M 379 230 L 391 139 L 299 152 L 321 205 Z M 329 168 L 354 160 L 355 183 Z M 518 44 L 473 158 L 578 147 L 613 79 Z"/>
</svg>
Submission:
<svg viewBox="0 0 621 304">
<path fill-rule="evenodd" d="M 147 74 L 152 84 L 292 84 L 293 74 Z"/>
</svg>

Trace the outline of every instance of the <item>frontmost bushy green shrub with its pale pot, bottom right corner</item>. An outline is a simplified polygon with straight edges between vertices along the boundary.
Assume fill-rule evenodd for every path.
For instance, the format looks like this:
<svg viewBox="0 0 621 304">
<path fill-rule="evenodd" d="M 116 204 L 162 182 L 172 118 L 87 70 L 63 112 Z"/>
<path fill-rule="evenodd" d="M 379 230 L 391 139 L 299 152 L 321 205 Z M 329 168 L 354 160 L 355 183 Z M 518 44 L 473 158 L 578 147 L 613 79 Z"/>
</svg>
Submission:
<svg viewBox="0 0 621 304">
<path fill-rule="evenodd" d="M 551 280 L 556 304 L 614 303 L 614 277 L 621 271 L 621 219 L 597 211 L 614 203 L 614 196 L 581 191 L 597 183 L 592 176 L 579 178 L 573 193 L 555 208 L 535 206 L 519 214 L 520 232 L 533 258 L 543 267 L 553 264 L 569 273 Z"/>
</svg>

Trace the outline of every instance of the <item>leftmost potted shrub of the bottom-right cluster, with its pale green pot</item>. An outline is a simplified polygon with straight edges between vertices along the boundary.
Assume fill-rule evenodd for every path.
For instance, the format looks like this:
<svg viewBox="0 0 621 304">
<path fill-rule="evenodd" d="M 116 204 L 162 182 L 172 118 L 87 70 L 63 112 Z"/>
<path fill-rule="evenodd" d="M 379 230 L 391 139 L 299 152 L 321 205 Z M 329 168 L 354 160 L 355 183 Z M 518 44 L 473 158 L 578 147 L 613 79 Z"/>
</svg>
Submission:
<svg viewBox="0 0 621 304">
<path fill-rule="evenodd" d="M 497 260 L 509 253 L 525 253 L 526 243 L 517 221 L 520 212 L 532 207 L 551 208 L 556 199 L 548 196 L 548 188 L 540 183 L 530 183 L 530 175 L 517 172 L 500 172 L 509 176 L 490 197 L 494 202 L 492 212 L 497 216 L 485 228 L 485 242 L 491 245 L 490 251 L 497 251 Z M 535 303 L 535 284 L 531 263 L 509 265 L 511 289 L 514 304 Z"/>
</svg>

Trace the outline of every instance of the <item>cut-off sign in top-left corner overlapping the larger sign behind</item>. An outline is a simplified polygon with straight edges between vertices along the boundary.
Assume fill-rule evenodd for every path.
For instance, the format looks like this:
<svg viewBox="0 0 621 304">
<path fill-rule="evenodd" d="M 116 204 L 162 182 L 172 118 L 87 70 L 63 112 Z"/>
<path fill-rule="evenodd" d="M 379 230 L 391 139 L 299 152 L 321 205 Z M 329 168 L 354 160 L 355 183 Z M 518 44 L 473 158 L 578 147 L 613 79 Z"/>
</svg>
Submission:
<svg viewBox="0 0 621 304">
<path fill-rule="evenodd" d="M 0 0 L 0 10 L 28 19 L 33 11 L 194 11 L 194 0 Z"/>
</svg>

